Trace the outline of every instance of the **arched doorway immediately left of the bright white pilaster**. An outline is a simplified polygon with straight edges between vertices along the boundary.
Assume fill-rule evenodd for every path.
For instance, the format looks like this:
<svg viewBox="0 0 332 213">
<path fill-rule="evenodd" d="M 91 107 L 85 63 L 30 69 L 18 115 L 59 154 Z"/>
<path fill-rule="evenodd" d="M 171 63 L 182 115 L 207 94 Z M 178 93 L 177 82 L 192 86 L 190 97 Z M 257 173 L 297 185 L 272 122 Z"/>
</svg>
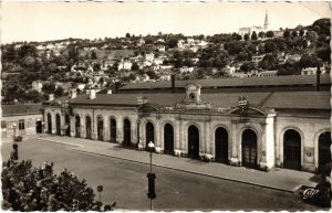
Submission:
<svg viewBox="0 0 332 213">
<path fill-rule="evenodd" d="M 251 129 L 242 132 L 242 166 L 257 168 L 257 135 Z"/>
</svg>

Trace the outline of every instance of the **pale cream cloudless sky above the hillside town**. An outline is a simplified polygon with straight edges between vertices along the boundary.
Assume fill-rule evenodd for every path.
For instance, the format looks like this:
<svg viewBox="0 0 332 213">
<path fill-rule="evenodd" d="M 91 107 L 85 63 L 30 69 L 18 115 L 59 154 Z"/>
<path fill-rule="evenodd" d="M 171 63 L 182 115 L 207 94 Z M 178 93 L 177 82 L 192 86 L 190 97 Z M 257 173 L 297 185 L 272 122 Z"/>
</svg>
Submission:
<svg viewBox="0 0 332 213">
<path fill-rule="evenodd" d="M 328 2 L 2 2 L 1 43 L 162 33 L 185 35 L 309 25 L 331 18 Z"/>
</svg>

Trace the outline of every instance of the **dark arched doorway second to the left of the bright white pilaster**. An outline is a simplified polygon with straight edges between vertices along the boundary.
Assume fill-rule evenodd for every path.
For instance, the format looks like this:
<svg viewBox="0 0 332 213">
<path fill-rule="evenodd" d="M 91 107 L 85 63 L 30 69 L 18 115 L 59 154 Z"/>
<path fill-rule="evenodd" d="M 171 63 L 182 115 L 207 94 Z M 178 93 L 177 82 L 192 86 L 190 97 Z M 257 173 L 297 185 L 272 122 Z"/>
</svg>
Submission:
<svg viewBox="0 0 332 213">
<path fill-rule="evenodd" d="M 216 161 L 228 163 L 228 132 L 218 127 L 215 131 Z"/>
</svg>

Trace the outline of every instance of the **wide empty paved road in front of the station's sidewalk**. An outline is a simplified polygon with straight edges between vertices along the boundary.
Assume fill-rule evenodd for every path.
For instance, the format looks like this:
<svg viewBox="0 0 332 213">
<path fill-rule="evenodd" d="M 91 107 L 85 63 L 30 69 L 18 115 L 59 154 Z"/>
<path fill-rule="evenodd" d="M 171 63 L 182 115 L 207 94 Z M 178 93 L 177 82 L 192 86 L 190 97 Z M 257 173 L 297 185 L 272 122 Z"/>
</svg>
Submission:
<svg viewBox="0 0 332 213">
<path fill-rule="evenodd" d="M 9 157 L 10 150 L 10 143 L 2 145 L 3 159 Z M 33 139 L 19 145 L 19 157 L 32 159 L 35 166 L 41 166 L 46 160 L 53 161 L 55 172 L 68 168 L 85 179 L 93 189 L 102 184 L 102 201 L 116 201 L 117 209 L 144 211 L 149 207 L 149 200 L 146 198 L 147 164 L 82 153 L 71 150 L 69 146 Z M 303 203 L 293 193 L 172 169 L 153 169 L 157 175 L 154 210 L 319 210 Z"/>
</svg>

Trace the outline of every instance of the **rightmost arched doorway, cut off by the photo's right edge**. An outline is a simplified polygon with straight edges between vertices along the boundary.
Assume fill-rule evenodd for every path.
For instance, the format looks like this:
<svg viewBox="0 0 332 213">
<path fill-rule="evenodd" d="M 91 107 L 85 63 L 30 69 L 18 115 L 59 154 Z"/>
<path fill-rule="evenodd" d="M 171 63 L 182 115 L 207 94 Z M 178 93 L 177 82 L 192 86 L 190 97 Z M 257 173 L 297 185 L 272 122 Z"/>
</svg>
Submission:
<svg viewBox="0 0 332 213">
<path fill-rule="evenodd" d="M 319 137 L 319 171 L 322 172 L 324 166 L 331 162 L 331 132 L 322 132 Z M 330 167 L 331 172 L 331 167 Z"/>
</svg>

